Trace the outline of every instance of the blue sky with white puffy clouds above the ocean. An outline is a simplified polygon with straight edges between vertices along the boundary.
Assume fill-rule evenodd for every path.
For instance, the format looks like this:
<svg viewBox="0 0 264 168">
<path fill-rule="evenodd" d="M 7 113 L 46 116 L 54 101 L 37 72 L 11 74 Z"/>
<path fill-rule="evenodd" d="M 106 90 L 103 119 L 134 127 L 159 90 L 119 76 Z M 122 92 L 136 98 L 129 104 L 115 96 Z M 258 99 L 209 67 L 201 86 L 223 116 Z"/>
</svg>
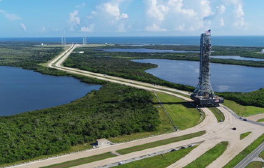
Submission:
<svg viewBox="0 0 264 168">
<path fill-rule="evenodd" d="M 263 0 L 0 0 L 0 37 L 264 35 Z"/>
</svg>

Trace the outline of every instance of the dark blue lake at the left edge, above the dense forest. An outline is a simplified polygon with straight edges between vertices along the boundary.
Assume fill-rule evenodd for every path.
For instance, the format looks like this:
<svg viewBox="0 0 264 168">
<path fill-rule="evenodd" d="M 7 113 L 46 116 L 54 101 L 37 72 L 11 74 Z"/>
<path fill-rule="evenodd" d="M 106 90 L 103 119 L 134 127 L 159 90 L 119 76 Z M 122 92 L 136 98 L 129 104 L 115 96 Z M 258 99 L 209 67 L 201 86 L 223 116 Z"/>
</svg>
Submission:
<svg viewBox="0 0 264 168">
<path fill-rule="evenodd" d="M 0 116 L 66 104 L 101 87 L 16 67 L 0 66 L 0 79 Z"/>
</svg>

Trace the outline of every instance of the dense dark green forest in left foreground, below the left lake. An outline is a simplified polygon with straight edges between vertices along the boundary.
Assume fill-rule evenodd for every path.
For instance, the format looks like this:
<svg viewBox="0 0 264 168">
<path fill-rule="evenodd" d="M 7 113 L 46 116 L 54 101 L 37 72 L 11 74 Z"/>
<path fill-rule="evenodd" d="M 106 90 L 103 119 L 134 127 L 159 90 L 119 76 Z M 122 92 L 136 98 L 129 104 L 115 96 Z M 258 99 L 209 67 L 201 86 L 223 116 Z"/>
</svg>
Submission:
<svg viewBox="0 0 264 168">
<path fill-rule="evenodd" d="M 160 121 L 151 93 L 106 83 L 70 104 L 1 117 L 0 123 L 0 163 L 8 163 L 97 138 L 155 131 Z"/>
</svg>

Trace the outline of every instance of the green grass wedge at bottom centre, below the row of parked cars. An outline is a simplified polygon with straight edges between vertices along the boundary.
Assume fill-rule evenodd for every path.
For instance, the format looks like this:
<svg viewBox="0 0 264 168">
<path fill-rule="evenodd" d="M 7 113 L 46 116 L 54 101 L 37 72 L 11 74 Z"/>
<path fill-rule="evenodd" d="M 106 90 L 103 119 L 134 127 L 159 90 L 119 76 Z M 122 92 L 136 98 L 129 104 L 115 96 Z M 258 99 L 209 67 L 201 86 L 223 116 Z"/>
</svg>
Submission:
<svg viewBox="0 0 264 168">
<path fill-rule="evenodd" d="M 190 148 L 185 148 L 185 149 L 181 149 L 178 151 L 149 157 L 147 159 L 133 161 L 133 162 L 123 164 L 120 166 L 115 166 L 115 167 L 117 168 L 148 168 L 148 167 L 165 168 L 175 163 L 179 159 L 183 158 L 186 154 L 188 154 L 191 150 L 193 150 L 196 147 L 197 146 L 193 146 Z"/>
</svg>

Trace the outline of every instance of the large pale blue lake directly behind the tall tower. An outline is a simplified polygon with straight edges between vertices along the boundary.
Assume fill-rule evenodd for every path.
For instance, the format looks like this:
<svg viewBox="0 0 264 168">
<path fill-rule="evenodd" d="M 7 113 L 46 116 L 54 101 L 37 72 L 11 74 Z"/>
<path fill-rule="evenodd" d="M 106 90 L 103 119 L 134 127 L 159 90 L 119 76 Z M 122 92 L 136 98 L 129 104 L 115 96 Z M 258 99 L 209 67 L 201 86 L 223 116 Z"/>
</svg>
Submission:
<svg viewBox="0 0 264 168">
<path fill-rule="evenodd" d="M 135 59 L 152 63 L 157 68 L 146 70 L 156 77 L 174 83 L 196 86 L 199 62 L 168 59 Z M 211 84 L 214 91 L 249 92 L 264 87 L 264 68 L 210 63 Z"/>
</svg>

